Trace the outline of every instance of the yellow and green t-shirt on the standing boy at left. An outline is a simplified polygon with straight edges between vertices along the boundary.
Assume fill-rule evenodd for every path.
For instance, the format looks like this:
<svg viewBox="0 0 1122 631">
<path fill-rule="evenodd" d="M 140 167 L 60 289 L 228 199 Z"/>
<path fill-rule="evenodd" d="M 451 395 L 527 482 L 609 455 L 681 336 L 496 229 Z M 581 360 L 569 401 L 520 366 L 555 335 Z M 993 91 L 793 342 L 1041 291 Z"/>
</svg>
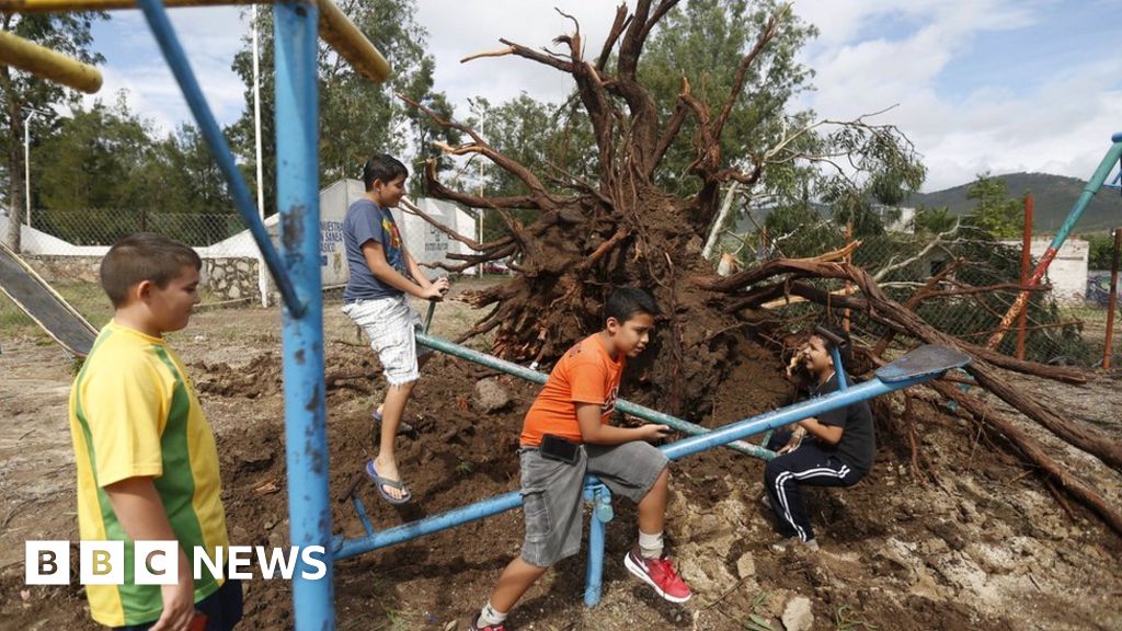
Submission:
<svg viewBox="0 0 1122 631">
<path fill-rule="evenodd" d="M 158 585 L 136 585 L 132 543 L 104 487 L 151 477 L 180 546 L 229 547 L 218 449 L 180 358 L 164 340 L 110 322 L 71 388 L 71 437 L 77 459 L 77 521 L 83 540 L 125 541 L 122 585 L 88 585 L 93 619 L 109 627 L 159 618 Z M 218 591 L 203 566 L 195 602 Z"/>
</svg>

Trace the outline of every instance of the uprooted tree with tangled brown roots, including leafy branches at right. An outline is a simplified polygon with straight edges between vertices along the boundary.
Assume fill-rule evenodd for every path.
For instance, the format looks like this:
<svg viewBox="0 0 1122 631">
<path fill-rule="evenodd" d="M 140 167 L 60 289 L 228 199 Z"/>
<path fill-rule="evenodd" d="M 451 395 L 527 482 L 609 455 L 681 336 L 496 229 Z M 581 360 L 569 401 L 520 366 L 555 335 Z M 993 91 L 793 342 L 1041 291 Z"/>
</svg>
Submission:
<svg viewBox="0 0 1122 631">
<path fill-rule="evenodd" d="M 918 341 L 963 347 L 886 298 L 859 268 L 821 260 L 774 262 L 763 269 L 727 278 L 715 275 L 712 264 L 702 257 L 702 245 L 717 218 L 723 186 L 735 183 L 751 190 L 766 188 L 769 177 L 790 181 L 811 174 L 812 183 L 806 181 L 797 188 L 806 191 L 812 186 L 836 214 L 858 223 L 867 216 L 872 200 L 896 202 L 918 188 L 923 168 L 910 143 L 894 127 L 870 124 L 866 117 L 816 122 L 803 112 L 783 119 L 797 125 L 775 125 L 776 117 L 784 117 L 783 99 L 762 110 L 757 108 L 757 125 L 772 129 L 771 134 L 754 136 L 758 146 L 742 147 L 743 155 L 726 155 L 721 138 L 738 102 L 746 92 L 748 100 L 761 101 L 752 99 L 752 81 L 760 81 L 776 63 L 770 46 L 784 25 L 797 18 L 788 7 L 761 2 L 771 10 L 756 7 L 752 13 L 757 27 L 754 42 L 735 67 L 727 68 L 732 75 L 727 93 L 716 102 L 707 102 L 683 73 L 677 97 L 665 103 L 640 81 L 640 58 L 660 20 L 678 10 L 675 4 L 677 0 L 662 0 L 652 7 L 650 0 L 640 0 L 634 12 L 620 6 L 596 58 L 585 58 L 580 27 L 572 20 L 573 33 L 554 40 L 564 52 L 534 49 L 504 39 L 504 48 L 466 60 L 513 55 L 570 75 L 595 141 L 590 147 L 595 176 L 573 174 L 557 163 L 549 165 L 548 173 L 534 173 L 490 146 L 469 126 L 445 120 L 403 97 L 438 124 L 470 138 L 458 146 L 443 146 L 445 153 L 487 158 L 523 184 L 521 194 L 470 194 L 442 183 L 434 161 L 426 165 L 430 194 L 497 213 L 506 228 L 505 235 L 479 243 L 425 217 L 476 253 L 453 257 L 462 263 L 442 265 L 445 269 L 462 271 L 500 258 L 513 262 L 514 276 L 509 281 L 467 295 L 469 303 L 490 311 L 463 338 L 491 333 L 495 354 L 513 360 L 549 363 L 573 340 L 598 328 L 600 308 L 611 286 L 644 287 L 663 309 L 652 345 L 659 359 L 646 367 L 645 394 L 671 412 L 698 421 L 705 419 L 697 411 L 709 410 L 706 403 L 712 393 L 729 385 L 734 366 L 745 360 L 761 362 L 778 373 L 779 363 L 758 344 L 762 333 L 774 337 L 783 332 L 769 330 L 767 322 L 774 319 L 760 317 L 767 300 L 789 294 L 793 284 L 806 299 L 836 301 L 829 292 L 799 283 L 810 277 L 855 282 L 864 298 L 852 300 L 852 307 L 875 314 L 892 332 Z M 747 9 L 744 3 L 738 7 Z M 706 80 L 695 77 L 696 82 Z M 688 136 L 683 134 L 687 130 Z M 678 194 L 668 191 L 668 179 L 660 175 L 671 152 L 690 153 L 686 171 L 696 185 L 688 195 L 680 194 L 681 186 L 675 186 Z M 515 216 L 515 211 L 525 210 L 536 211 L 532 220 Z M 973 347 L 967 350 L 983 354 L 984 359 L 974 371 L 984 387 L 1027 410 L 1031 418 L 1107 465 L 1122 466 L 1116 448 L 1089 430 L 1073 428 L 1059 414 L 1040 409 L 1031 397 L 1002 381 L 991 363 L 1029 372 L 1036 368 L 1014 366 L 1008 358 Z M 985 415 L 985 411 L 980 409 L 978 414 Z M 1122 520 L 1086 485 L 1057 468 L 1033 443 L 995 424 L 993 417 L 987 423 L 1122 531 Z"/>
</svg>

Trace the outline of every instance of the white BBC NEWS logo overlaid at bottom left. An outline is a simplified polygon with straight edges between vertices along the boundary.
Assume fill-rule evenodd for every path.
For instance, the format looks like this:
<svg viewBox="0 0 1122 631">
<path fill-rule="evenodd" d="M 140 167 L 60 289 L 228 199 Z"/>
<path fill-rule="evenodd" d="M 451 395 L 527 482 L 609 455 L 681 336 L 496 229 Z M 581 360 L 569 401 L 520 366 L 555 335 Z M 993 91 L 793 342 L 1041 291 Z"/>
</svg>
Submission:
<svg viewBox="0 0 1122 631">
<path fill-rule="evenodd" d="M 71 564 L 70 541 L 27 541 L 25 543 L 25 578 L 28 585 L 68 585 Z M 205 548 L 195 547 L 191 554 L 192 576 L 248 580 L 251 569 L 260 570 L 266 580 L 292 580 L 298 576 L 307 580 L 328 574 L 327 552 L 323 546 L 293 546 L 266 548 L 264 546 L 230 546 L 214 549 L 211 557 Z M 81 541 L 79 546 L 79 583 L 82 585 L 122 585 L 125 583 L 123 541 Z M 136 541 L 132 555 L 132 584 L 175 585 L 180 571 L 180 543 L 177 541 Z"/>
</svg>

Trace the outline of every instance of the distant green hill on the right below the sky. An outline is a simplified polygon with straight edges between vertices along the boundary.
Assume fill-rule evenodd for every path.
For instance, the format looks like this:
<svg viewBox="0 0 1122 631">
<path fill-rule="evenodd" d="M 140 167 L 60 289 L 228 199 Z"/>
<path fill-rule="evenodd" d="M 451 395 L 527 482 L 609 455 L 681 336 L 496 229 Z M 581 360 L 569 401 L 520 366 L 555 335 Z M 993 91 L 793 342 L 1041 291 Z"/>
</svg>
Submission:
<svg viewBox="0 0 1122 631">
<path fill-rule="evenodd" d="M 1049 234 L 1059 229 L 1086 182 L 1064 175 L 1047 173 L 1008 173 L 994 175 L 1004 180 L 1011 196 L 1031 192 L 1033 196 L 1032 223 L 1034 234 Z M 934 193 L 917 193 L 903 205 L 950 209 L 951 214 L 962 216 L 974 208 L 974 201 L 966 199 L 972 183 Z M 1122 227 L 1122 194 L 1115 189 L 1103 186 L 1083 212 L 1075 226 L 1075 234 L 1101 232 Z"/>
</svg>

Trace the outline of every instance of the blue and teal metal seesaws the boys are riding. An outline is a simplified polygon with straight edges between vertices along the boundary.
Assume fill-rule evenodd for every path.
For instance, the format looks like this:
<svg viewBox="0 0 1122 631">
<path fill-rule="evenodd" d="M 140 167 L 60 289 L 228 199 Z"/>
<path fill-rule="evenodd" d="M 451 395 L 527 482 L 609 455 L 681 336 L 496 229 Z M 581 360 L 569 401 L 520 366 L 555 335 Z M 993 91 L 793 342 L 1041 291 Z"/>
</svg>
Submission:
<svg viewBox="0 0 1122 631">
<path fill-rule="evenodd" d="M 822 331 L 819 331 L 821 335 Z M 417 342 L 434 350 L 467 359 L 480 364 L 488 368 L 504 372 L 516 377 L 521 377 L 534 383 L 544 384 L 548 375 L 531 371 L 517 364 L 498 359 L 465 346 L 452 344 L 427 333 L 417 333 Z M 717 447 L 737 447 L 738 450 L 762 459 L 771 459 L 775 454 L 763 447 L 743 442 L 743 439 L 758 433 L 763 433 L 788 423 L 821 414 L 822 412 L 843 408 L 858 401 L 866 401 L 874 396 L 902 390 L 909 386 L 938 378 L 947 371 L 960 368 L 971 362 L 971 357 L 965 353 L 946 348 L 942 346 L 921 346 L 911 353 L 900 357 L 895 362 L 881 367 L 875 373 L 875 377 L 864 383 L 849 385 L 842 366 L 840 354 L 837 346 L 833 349 L 834 365 L 837 369 L 839 390 L 816 399 L 780 408 L 771 412 L 751 417 L 724 426 L 716 430 L 709 430 L 701 426 L 650 410 L 624 400 L 616 403 L 616 409 L 626 414 L 632 414 L 641 419 L 670 426 L 684 433 L 692 435 L 689 438 L 678 440 L 661 447 L 662 451 L 671 460 L 678 460 L 686 456 L 708 451 Z M 426 534 L 432 534 L 441 530 L 478 521 L 496 515 L 498 513 L 522 506 L 522 496 L 517 491 L 504 493 L 494 497 L 488 497 L 459 509 L 453 509 L 386 530 L 375 530 L 366 507 L 358 494 L 355 493 L 355 485 L 348 491 L 355 510 L 358 512 L 362 528 L 366 530 L 365 537 L 347 539 L 343 536 L 335 536 L 332 540 L 332 558 L 344 559 L 369 552 L 394 543 L 401 543 Z M 588 534 L 588 564 L 585 574 L 585 604 L 589 607 L 596 606 L 600 602 L 600 591 L 604 574 L 604 541 L 605 529 L 611 521 L 614 514 L 611 510 L 611 492 L 607 486 L 588 476 L 585 481 L 585 500 L 592 503 L 592 516 L 589 524 Z"/>
</svg>

